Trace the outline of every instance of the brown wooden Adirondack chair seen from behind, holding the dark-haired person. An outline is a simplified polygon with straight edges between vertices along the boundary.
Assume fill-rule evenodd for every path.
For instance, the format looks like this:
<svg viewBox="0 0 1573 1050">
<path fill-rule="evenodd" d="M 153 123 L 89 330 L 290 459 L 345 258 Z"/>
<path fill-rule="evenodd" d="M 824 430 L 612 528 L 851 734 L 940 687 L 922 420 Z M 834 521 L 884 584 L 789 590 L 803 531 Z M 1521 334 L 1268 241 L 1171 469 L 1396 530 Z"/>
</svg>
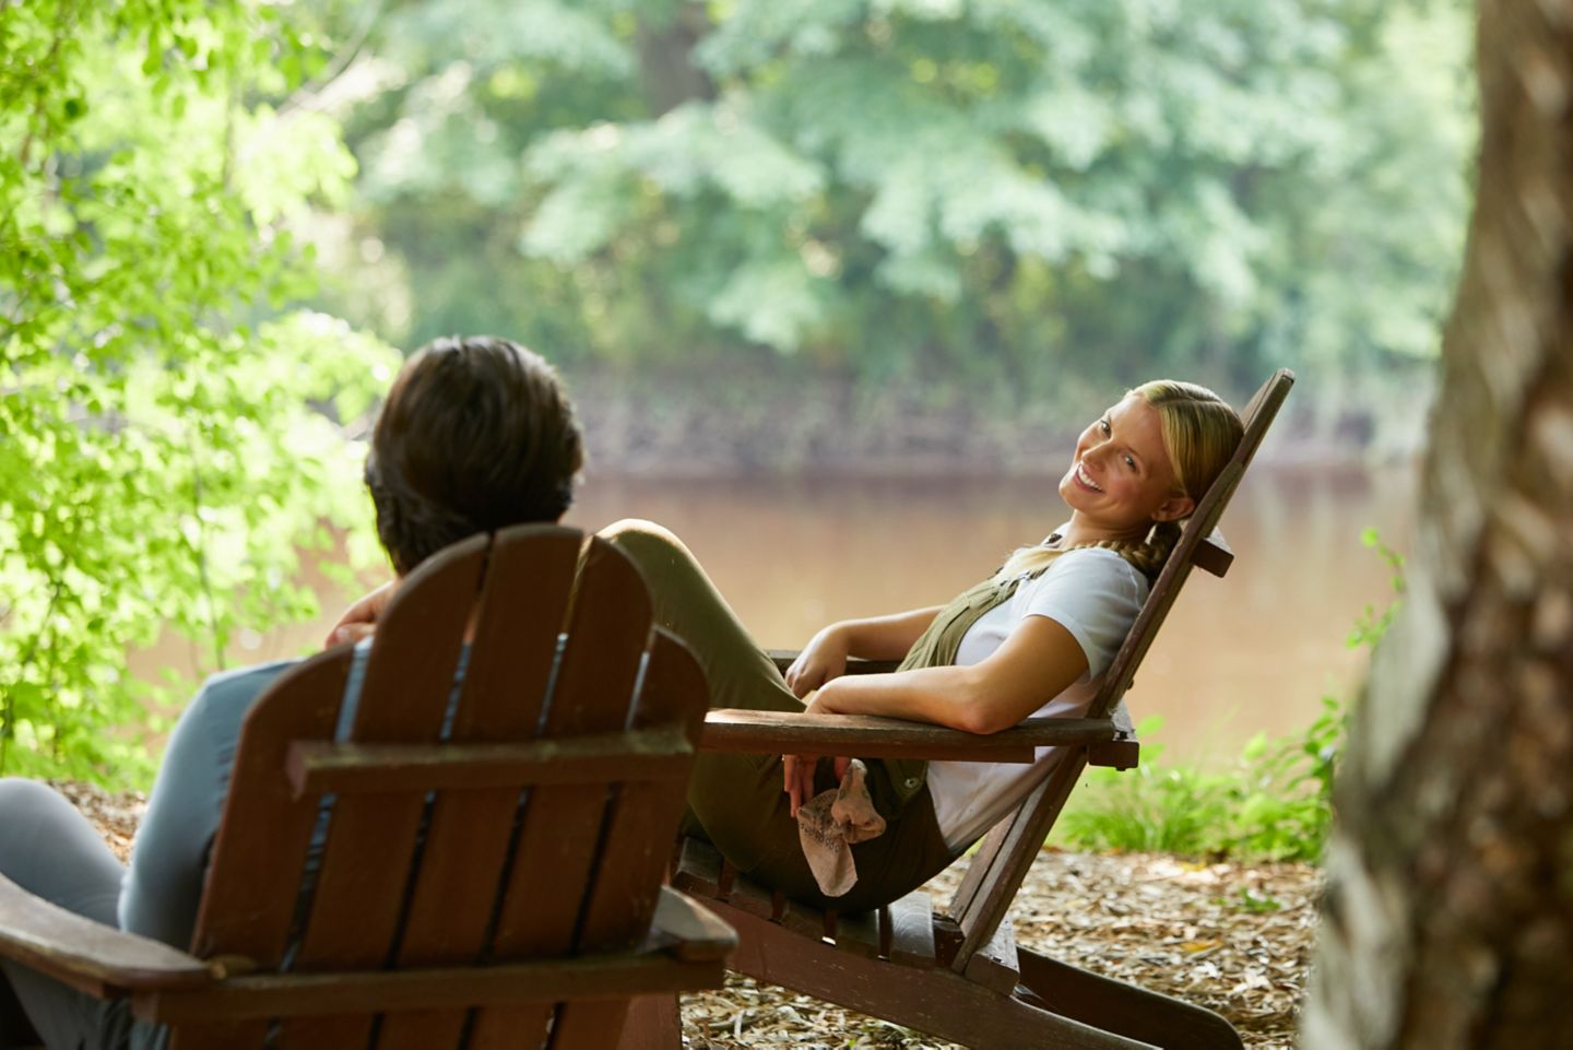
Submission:
<svg viewBox="0 0 1573 1050">
<path fill-rule="evenodd" d="M 661 886 L 705 680 L 618 551 L 522 526 L 429 559 L 335 743 L 351 660 L 304 661 L 247 718 L 190 954 L 5 880 L 0 952 L 129 995 L 171 1050 L 607 1047 L 635 992 L 720 984 L 735 935 Z"/>
</svg>

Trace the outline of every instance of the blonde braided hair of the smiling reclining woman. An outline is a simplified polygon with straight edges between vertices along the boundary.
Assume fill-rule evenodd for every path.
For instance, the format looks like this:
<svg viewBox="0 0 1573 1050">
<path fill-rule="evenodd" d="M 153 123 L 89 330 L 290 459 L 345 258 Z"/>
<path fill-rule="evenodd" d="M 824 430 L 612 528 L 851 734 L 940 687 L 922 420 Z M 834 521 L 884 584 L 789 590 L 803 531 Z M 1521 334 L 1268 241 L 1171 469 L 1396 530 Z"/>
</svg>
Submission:
<svg viewBox="0 0 1573 1050">
<path fill-rule="evenodd" d="M 1164 452 L 1169 453 L 1175 475 L 1175 491 L 1202 502 L 1246 433 L 1240 414 L 1205 386 L 1180 379 L 1153 379 L 1126 390 L 1125 397 L 1140 397 L 1158 411 Z M 1100 540 L 1063 549 L 1024 546 L 1000 565 L 997 575 L 999 578 L 1037 575 L 1060 554 L 1101 546 L 1117 553 L 1144 576 L 1153 579 L 1162 571 L 1169 553 L 1180 542 L 1180 518 L 1155 521 L 1142 540 Z"/>
</svg>

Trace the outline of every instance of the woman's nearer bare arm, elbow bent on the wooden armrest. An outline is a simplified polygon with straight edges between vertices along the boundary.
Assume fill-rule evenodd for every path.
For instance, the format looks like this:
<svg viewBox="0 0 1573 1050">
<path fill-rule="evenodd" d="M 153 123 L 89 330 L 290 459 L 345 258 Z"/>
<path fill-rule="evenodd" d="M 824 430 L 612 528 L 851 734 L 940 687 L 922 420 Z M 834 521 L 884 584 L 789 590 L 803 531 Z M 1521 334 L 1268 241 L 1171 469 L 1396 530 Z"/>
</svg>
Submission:
<svg viewBox="0 0 1573 1050">
<path fill-rule="evenodd" d="M 810 712 L 887 715 L 975 734 L 1008 729 L 1087 671 L 1087 653 L 1055 620 L 1029 616 L 986 660 L 966 667 L 840 677 Z"/>
</svg>

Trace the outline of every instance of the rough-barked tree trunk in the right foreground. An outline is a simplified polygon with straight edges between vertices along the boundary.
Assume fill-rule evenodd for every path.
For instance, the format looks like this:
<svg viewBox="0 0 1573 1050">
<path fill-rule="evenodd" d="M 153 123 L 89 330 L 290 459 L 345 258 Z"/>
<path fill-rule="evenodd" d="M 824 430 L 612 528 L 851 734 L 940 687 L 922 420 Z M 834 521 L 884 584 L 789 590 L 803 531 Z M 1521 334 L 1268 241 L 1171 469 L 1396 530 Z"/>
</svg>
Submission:
<svg viewBox="0 0 1573 1050">
<path fill-rule="evenodd" d="M 1310 1050 L 1573 1045 L 1573 3 L 1486 0 L 1479 71 L 1409 598 L 1340 771 Z"/>
</svg>

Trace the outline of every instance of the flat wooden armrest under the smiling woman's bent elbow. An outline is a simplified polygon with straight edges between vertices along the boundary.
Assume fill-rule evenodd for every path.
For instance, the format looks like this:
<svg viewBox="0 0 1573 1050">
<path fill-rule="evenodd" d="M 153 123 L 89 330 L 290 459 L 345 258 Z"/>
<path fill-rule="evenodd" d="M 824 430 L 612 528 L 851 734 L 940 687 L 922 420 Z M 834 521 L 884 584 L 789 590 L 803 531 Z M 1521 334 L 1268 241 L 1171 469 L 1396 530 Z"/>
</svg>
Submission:
<svg viewBox="0 0 1573 1050">
<path fill-rule="evenodd" d="M 1123 740 L 1107 718 L 1029 718 L 980 735 L 873 715 L 802 715 L 720 708 L 705 716 L 700 748 L 752 754 L 845 754 L 867 759 L 1032 762 L 1035 748 Z"/>
</svg>

